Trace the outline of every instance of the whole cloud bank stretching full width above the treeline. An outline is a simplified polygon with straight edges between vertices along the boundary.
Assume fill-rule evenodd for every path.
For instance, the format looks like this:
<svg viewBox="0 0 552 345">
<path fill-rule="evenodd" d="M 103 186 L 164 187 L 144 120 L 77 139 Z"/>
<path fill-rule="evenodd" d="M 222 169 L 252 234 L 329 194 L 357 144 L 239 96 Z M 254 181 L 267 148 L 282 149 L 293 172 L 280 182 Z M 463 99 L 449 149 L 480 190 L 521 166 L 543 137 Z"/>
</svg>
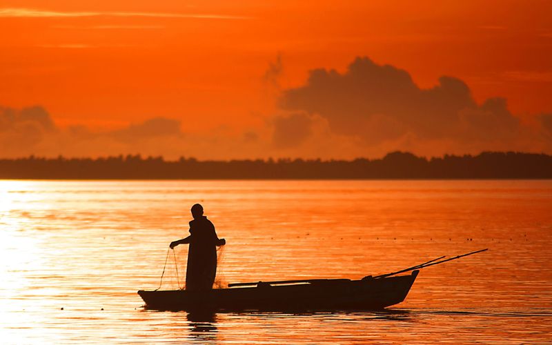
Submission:
<svg viewBox="0 0 552 345">
<path fill-rule="evenodd" d="M 277 83 L 282 61 L 264 79 Z M 304 86 L 283 90 L 279 115 L 266 128 L 192 135 L 162 117 L 118 130 L 59 128 L 41 106 L 0 106 L 0 157 L 118 154 L 199 159 L 383 157 L 408 150 L 417 155 L 476 154 L 486 150 L 552 152 L 552 114 L 524 124 L 506 99 L 477 103 L 462 80 L 441 77 L 420 88 L 405 70 L 357 58 L 345 72 L 317 69 Z"/>
</svg>

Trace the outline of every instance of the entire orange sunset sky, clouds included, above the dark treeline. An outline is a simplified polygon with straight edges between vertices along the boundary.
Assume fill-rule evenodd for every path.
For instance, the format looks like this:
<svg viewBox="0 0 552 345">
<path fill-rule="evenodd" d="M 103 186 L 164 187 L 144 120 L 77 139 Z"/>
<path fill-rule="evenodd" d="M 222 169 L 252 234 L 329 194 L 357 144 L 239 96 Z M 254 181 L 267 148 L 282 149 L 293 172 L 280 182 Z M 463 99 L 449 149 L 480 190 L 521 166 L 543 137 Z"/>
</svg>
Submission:
<svg viewBox="0 0 552 345">
<path fill-rule="evenodd" d="M 0 3 L 0 156 L 552 153 L 552 1 Z"/>
</svg>

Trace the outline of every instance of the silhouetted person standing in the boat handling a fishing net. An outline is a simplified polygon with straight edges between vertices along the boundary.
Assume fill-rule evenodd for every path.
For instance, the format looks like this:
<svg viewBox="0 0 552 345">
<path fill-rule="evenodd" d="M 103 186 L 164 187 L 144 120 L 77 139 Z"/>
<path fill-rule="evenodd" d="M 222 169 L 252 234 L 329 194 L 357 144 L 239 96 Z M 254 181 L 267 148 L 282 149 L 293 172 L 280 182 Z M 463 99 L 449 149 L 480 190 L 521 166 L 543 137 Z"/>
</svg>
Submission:
<svg viewBox="0 0 552 345">
<path fill-rule="evenodd" d="M 215 226 L 203 215 L 203 206 L 192 206 L 190 236 L 170 242 L 170 248 L 190 244 L 186 267 L 186 290 L 210 290 L 217 275 L 217 246 L 224 246 L 226 239 L 219 239 Z"/>
</svg>

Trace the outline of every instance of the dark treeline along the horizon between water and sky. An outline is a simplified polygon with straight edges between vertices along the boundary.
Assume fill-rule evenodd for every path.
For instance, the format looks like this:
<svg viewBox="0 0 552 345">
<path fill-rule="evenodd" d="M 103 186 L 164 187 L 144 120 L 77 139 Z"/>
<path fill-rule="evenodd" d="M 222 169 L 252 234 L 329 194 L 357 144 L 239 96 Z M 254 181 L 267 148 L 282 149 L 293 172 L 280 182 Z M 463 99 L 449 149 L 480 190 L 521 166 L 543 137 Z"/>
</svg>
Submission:
<svg viewBox="0 0 552 345">
<path fill-rule="evenodd" d="M 242 159 L 119 155 L 99 158 L 0 159 L 0 179 L 551 179 L 552 156 L 526 152 L 381 159 Z"/>
</svg>

